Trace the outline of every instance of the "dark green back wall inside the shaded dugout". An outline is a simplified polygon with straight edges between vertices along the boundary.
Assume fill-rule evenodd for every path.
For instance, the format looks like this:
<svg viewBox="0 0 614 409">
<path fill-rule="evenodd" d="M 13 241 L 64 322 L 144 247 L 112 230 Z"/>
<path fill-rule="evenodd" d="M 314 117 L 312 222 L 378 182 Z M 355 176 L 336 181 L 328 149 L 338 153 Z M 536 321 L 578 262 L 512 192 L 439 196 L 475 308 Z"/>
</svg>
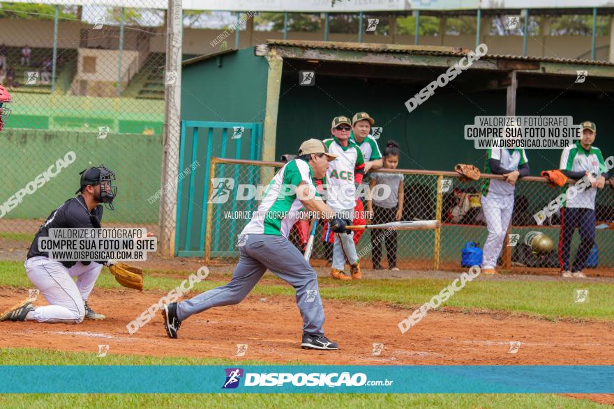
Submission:
<svg viewBox="0 0 614 409">
<path fill-rule="evenodd" d="M 285 67 L 287 68 L 287 67 Z M 487 75 L 487 74 L 485 74 Z M 436 74 L 433 74 L 435 79 Z M 409 113 L 405 101 L 421 86 L 377 79 L 350 79 L 317 75 L 316 86 L 299 86 L 297 72 L 285 72 L 281 85 L 277 125 L 276 156 L 296 153 L 301 141 L 330 136 L 334 116 L 351 116 L 367 111 L 375 126 L 383 126 L 379 140 L 383 150 L 387 139 L 400 142 L 400 167 L 405 169 L 451 170 L 467 162 L 484 169 L 484 153 L 463 139 L 464 125 L 474 116 L 504 115 L 505 91 L 472 91 L 470 84 L 454 82 L 438 88 L 430 99 Z M 456 89 L 455 89 L 456 88 Z M 614 155 L 611 112 L 614 100 L 594 94 L 561 93 L 561 90 L 518 91 L 518 115 L 571 115 L 576 123 L 587 118 L 597 123 L 596 146 L 604 156 Z M 560 150 L 527 151 L 532 174 L 558 167 Z"/>
</svg>

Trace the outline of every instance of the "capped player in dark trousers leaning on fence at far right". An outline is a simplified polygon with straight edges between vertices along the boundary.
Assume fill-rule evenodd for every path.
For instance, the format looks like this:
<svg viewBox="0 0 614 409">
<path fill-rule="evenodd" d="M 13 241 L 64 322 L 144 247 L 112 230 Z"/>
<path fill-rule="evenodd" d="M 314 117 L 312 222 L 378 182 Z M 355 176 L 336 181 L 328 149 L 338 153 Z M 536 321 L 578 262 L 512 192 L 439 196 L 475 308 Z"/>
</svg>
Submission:
<svg viewBox="0 0 614 409">
<path fill-rule="evenodd" d="M 601 150 L 592 146 L 597 133 L 597 126 L 585 121 L 581 123 L 582 137 L 567 148 L 561 155 L 560 171 L 568 178 L 581 180 L 585 176 L 590 180 L 590 187 L 569 196 L 561 208 L 561 236 L 559 240 L 559 262 L 562 277 L 586 277 L 582 272 L 586 265 L 590 250 L 594 245 L 595 216 L 594 203 L 597 189 L 603 189 L 608 178 L 608 169 L 601 155 Z M 567 192 L 567 187 L 565 187 Z M 576 252 L 576 260 L 569 268 L 569 253 L 571 238 L 578 227 L 580 246 Z"/>
</svg>

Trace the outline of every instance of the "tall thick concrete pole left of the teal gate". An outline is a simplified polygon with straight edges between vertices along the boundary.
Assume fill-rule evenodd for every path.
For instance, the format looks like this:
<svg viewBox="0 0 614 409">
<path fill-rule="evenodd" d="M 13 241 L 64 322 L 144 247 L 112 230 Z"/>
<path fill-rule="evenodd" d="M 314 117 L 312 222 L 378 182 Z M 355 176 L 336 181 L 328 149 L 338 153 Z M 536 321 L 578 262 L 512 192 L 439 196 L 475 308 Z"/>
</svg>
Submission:
<svg viewBox="0 0 614 409">
<path fill-rule="evenodd" d="M 179 139 L 181 139 L 181 0 L 168 0 L 163 128 L 162 195 L 160 198 L 160 252 L 174 255 L 177 225 Z"/>
</svg>

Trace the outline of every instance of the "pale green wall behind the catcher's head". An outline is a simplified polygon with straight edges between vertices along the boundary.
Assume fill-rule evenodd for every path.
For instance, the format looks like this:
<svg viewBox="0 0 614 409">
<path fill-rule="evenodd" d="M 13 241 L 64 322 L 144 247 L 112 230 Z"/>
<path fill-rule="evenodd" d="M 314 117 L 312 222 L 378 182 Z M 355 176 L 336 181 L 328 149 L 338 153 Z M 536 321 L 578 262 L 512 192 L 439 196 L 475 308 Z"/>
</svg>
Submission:
<svg viewBox="0 0 614 409">
<path fill-rule="evenodd" d="M 36 192 L 24 196 L 22 203 L 4 218 L 46 218 L 63 201 L 75 196 L 80 187 L 80 171 L 103 163 L 115 172 L 118 186 L 115 210 L 105 211 L 105 222 L 158 222 L 159 202 L 150 204 L 147 200 L 160 189 L 162 145 L 158 136 L 109 134 L 105 139 L 98 139 L 98 132 L 3 130 L 0 160 L 4 178 L 0 203 L 69 151 L 76 153 L 75 162 Z"/>
</svg>

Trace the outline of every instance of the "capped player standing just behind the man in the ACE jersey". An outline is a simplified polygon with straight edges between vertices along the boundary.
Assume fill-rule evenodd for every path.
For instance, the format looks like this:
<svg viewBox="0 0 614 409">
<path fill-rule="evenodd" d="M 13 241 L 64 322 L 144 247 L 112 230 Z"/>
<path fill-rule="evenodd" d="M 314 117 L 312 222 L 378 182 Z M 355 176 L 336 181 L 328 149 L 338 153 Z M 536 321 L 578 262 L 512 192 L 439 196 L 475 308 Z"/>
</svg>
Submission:
<svg viewBox="0 0 614 409">
<path fill-rule="evenodd" d="M 366 112 L 358 112 L 352 117 L 350 141 L 360 148 L 365 162 L 365 174 L 370 170 L 376 171 L 384 165 L 382 161 L 382 152 L 380 152 L 380 148 L 377 146 L 377 141 L 370 135 L 371 125 L 373 125 L 373 123 L 375 123 L 375 119 L 371 118 Z M 357 197 L 353 223 L 367 224 L 366 219 L 363 198 Z M 358 244 L 363 233 L 364 230 L 354 231 L 354 245 Z"/>
</svg>

